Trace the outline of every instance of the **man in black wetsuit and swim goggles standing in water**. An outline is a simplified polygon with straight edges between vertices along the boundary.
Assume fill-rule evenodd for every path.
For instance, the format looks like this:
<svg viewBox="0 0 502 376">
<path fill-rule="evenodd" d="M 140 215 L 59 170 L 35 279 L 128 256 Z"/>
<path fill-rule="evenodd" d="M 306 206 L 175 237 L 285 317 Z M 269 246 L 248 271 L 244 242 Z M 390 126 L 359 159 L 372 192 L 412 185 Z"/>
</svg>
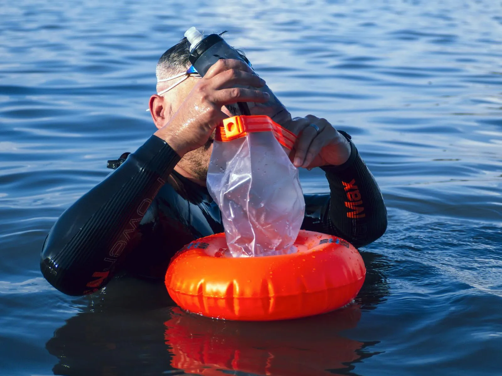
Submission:
<svg viewBox="0 0 502 376">
<path fill-rule="evenodd" d="M 214 129 L 230 116 L 225 105 L 269 97 L 254 89 L 265 82 L 241 61 L 220 60 L 197 79 L 188 55 L 184 38 L 159 60 L 158 94 L 150 98 L 154 135 L 110 161 L 120 167 L 66 210 L 47 236 L 41 270 L 58 290 L 89 294 L 117 272 L 163 278 L 177 250 L 224 231 L 205 186 Z M 322 168 L 330 186 L 330 194 L 305 195 L 302 229 L 355 247 L 381 237 L 387 211 L 350 136 L 313 115 L 293 119 L 288 129 L 299 135 L 294 165 Z"/>
</svg>

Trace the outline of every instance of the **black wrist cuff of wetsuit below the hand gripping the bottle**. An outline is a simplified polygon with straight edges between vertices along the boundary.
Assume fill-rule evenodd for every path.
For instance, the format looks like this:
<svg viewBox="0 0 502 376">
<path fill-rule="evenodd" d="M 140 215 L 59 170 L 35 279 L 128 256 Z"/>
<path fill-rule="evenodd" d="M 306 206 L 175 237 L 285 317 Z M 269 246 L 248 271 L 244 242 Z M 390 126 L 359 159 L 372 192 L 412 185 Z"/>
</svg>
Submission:
<svg viewBox="0 0 502 376">
<path fill-rule="evenodd" d="M 148 167 L 161 177 L 167 177 L 181 159 L 166 141 L 156 135 L 152 135 L 141 145 L 134 152 L 134 156 L 140 162 L 148 164 Z"/>
</svg>

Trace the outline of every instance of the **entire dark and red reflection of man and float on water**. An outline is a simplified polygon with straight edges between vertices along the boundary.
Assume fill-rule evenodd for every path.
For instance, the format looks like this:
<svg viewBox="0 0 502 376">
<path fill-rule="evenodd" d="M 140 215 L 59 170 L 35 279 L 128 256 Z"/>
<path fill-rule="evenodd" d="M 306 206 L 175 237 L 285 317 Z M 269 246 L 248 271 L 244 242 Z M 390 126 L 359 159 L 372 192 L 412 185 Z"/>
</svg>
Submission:
<svg viewBox="0 0 502 376">
<path fill-rule="evenodd" d="M 354 362 L 380 353 L 371 349 L 379 341 L 358 341 L 342 332 L 355 328 L 361 313 L 376 308 L 389 293 L 383 257 L 364 253 L 363 259 L 367 279 L 355 303 L 324 315 L 279 322 L 215 320 L 178 307 L 165 308 L 172 302 L 166 300 L 164 286 L 145 283 L 140 288 L 122 280 L 136 288 L 133 301 L 131 289 L 120 297 L 123 286 L 107 287 L 46 343 L 47 350 L 59 359 L 53 371 L 68 376 L 175 370 L 207 376 L 223 376 L 228 374 L 225 371 L 350 374 Z"/>
</svg>

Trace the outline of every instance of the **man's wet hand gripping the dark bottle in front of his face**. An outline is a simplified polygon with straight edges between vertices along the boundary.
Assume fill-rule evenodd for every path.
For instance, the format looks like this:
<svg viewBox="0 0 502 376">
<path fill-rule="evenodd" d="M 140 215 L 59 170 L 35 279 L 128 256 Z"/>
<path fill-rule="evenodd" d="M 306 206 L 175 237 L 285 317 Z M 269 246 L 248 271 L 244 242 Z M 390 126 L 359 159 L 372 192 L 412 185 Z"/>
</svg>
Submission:
<svg viewBox="0 0 502 376">
<path fill-rule="evenodd" d="M 167 124 L 154 133 L 181 157 L 203 146 L 216 126 L 228 117 L 221 111 L 222 106 L 269 100 L 268 93 L 237 87 L 265 85 L 265 81 L 240 60 L 219 60 L 199 81 Z"/>
</svg>

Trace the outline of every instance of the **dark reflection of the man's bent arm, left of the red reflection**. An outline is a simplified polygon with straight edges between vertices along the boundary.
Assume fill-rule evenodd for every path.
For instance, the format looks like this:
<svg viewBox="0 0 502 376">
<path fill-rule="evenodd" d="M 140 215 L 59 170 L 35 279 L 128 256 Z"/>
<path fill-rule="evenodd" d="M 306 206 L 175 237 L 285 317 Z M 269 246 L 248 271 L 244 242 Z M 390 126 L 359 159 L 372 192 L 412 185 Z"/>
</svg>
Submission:
<svg viewBox="0 0 502 376">
<path fill-rule="evenodd" d="M 54 374 L 161 374 L 170 366 L 164 344 L 166 308 L 173 302 L 162 284 L 112 284 L 92 298 L 78 299 L 81 311 L 56 329 L 46 343 L 58 358 Z"/>
</svg>

